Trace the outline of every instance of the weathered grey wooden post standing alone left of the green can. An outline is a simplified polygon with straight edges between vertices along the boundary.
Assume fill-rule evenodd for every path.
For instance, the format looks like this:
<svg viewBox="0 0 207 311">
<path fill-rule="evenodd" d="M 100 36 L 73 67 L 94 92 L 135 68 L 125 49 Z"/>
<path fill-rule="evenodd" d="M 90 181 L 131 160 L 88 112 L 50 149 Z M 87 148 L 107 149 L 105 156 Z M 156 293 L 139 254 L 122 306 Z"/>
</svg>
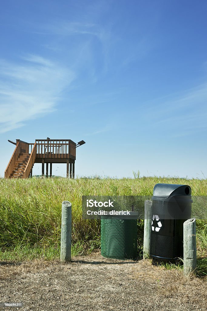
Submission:
<svg viewBox="0 0 207 311">
<path fill-rule="evenodd" d="M 71 261 L 72 208 L 68 201 L 62 202 L 61 261 Z"/>
</svg>

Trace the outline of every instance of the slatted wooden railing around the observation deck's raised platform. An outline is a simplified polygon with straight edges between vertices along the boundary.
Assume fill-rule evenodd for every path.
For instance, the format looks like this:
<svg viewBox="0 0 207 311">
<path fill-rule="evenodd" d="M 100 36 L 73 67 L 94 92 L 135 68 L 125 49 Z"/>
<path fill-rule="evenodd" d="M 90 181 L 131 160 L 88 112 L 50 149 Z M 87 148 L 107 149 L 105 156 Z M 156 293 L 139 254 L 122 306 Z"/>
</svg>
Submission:
<svg viewBox="0 0 207 311">
<path fill-rule="evenodd" d="M 76 144 L 70 139 L 39 140 L 37 143 L 37 158 L 69 158 L 76 155 Z"/>
</svg>

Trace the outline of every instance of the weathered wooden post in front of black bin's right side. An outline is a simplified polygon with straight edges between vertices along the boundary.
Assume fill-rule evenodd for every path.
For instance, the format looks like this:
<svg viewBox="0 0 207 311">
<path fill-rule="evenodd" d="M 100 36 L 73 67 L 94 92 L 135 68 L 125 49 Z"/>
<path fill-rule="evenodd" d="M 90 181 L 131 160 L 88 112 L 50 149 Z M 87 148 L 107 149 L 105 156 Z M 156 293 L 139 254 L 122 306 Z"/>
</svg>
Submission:
<svg viewBox="0 0 207 311">
<path fill-rule="evenodd" d="M 196 272 L 196 218 L 183 224 L 183 272 L 185 276 Z"/>
</svg>

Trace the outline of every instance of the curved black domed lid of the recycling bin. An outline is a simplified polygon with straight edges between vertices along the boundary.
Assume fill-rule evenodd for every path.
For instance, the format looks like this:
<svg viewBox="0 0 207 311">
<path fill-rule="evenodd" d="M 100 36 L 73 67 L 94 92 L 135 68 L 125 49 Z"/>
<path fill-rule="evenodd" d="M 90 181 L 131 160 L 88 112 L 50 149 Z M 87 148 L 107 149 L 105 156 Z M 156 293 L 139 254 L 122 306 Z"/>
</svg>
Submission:
<svg viewBox="0 0 207 311">
<path fill-rule="evenodd" d="M 191 187 L 188 185 L 175 185 L 168 183 L 157 183 L 153 189 L 154 197 L 169 197 L 170 195 L 189 195 L 191 196 Z"/>
</svg>

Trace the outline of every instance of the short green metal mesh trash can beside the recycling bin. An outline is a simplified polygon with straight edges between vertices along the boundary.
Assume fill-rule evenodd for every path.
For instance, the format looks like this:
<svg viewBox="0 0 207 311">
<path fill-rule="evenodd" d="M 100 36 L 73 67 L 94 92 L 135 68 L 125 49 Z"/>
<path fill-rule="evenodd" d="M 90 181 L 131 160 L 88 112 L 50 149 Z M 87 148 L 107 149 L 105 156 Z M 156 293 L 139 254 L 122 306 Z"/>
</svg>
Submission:
<svg viewBox="0 0 207 311">
<path fill-rule="evenodd" d="M 106 258 L 137 257 L 137 212 L 129 216 L 101 216 L 101 255 Z"/>
</svg>

